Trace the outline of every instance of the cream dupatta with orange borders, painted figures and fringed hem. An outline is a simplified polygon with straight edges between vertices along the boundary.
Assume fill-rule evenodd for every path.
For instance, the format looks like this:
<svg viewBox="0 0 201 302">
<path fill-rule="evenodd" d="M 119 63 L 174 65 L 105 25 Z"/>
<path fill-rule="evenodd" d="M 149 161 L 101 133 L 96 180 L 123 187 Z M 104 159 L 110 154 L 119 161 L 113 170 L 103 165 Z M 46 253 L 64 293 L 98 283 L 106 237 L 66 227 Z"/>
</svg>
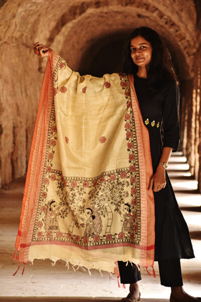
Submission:
<svg viewBox="0 0 201 302">
<path fill-rule="evenodd" d="M 50 52 L 16 241 L 19 263 L 63 259 L 113 272 L 154 262 L 149 134 L 133 77 L 72 71 Z"/>
</svg>

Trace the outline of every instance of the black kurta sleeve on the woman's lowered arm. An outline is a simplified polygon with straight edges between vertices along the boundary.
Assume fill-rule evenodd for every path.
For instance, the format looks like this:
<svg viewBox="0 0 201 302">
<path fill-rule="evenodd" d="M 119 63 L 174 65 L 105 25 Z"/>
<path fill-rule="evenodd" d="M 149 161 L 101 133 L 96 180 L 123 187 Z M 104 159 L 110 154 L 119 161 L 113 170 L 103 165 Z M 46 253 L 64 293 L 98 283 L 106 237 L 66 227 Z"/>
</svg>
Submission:
<svg viewBox="0 0 201 302">
<path fill-rule="evenodd" d="M 170 82 L 164 89 L 163 103 L 163 147 L 172 147 L 175 152 L 178 148 L 180 127 L 179 127 L 179 98 L 180 92 L 176 82 Z"/>
</svg>

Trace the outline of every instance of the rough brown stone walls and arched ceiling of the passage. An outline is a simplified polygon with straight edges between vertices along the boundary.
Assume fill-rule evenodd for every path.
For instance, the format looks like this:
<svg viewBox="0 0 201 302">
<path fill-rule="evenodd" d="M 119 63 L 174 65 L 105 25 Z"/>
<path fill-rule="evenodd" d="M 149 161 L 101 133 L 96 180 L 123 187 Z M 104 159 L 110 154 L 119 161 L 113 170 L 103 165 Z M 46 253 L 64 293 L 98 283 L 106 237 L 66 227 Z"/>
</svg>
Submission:
<svg viewBox="0 0 201 302">
<path fill-rule="evenodd" d="M 200 30 L 196 28 L 193 1 L 4 0 L 0 7 L 0 186 L 26 173 L 46 64 L 46 59 L 34 55 L 33 42 L 50 46 L 81 73 L 95 73 L 101 69 L 98 66 L 106 66 L 99 73 L 111 72 L 120 60 L 125 37 L 142 25 L 155 29 L 172 53 L 183 87 L 181 141 L 192 172 L 196 177 L 200 175 L 196 136 L 200 131 L 196 107 Z M 107 57 L 102 58 L 103 51 Z M 193 124 L 191 130 L 185 120 Z M 198 161 L 193 160 L 193 155 Z"/>
</svg>

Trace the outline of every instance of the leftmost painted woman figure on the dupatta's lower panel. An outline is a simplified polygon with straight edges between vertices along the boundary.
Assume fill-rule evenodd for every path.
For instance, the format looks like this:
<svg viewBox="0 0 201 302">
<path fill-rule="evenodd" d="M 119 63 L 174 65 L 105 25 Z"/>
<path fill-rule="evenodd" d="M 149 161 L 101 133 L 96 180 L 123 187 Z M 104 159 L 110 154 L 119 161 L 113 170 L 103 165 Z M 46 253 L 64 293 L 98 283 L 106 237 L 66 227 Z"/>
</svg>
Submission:
<svg viewBox="0 0 201 302">
<path fill-rule="evenodd" d="M 59 230 L 57 221 L 57 204 L 55 200 L 50 200 L 47 204 L 47 212 L 45 215 L 45 230 Z"/>
</svg>

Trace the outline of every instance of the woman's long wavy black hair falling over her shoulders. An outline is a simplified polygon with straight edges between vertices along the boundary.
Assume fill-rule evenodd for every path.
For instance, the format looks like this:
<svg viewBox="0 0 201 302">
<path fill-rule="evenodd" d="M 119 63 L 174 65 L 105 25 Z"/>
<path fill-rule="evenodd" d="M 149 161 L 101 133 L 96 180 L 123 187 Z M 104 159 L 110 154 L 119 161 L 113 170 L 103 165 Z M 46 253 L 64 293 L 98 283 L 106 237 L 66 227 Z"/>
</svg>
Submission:
<svg viewBox="0 0 201 302">
<path fill-rule="evenodd" d="M 158 33 L 149 27 L 136 28 L 126 40 L 123 51 L 122 71 L 133 74 L 138 71 L 138 66 L 131 57 L 130 44 L 133 38 L 139 36 L 148 41 L 152 47 L 152 58 L 146 65 L 150 90 L 157 91 L 166 80 L 174 80 L 178 83 L 169 50 Z"/>
</svg>

